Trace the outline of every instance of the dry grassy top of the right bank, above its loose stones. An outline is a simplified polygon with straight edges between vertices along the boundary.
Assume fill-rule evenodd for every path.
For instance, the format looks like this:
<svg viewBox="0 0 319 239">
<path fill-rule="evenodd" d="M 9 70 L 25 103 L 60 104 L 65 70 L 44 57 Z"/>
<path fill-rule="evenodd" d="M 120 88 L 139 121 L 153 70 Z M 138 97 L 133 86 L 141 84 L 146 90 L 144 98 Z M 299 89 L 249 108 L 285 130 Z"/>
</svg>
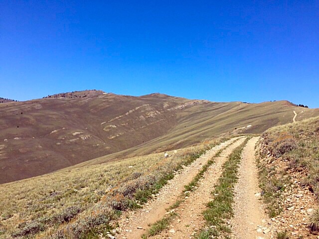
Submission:
<svg viewBox="0 0 319 239">
<path fill-rule="evenodd" d="M 319 118 L 274 127 L 263 134 L 267 149 L 289 162 L 290 168 L 307 171 L 304 184 L 319 190 Z"/>
</svg>

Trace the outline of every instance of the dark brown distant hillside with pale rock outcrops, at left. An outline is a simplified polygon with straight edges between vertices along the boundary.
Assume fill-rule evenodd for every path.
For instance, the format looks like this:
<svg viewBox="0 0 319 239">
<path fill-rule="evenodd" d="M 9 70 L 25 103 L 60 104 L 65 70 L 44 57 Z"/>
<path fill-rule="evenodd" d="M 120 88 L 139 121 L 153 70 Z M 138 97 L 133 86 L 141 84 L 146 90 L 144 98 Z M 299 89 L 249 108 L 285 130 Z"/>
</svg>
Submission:
<svg viewBox="0 0 319 239">
<path fill-rule="evenodd" d="M 150 141 L 173 127 L 178 110 L 207 104 L 162 95 L 131 97 L 100 91 L 60 96 L 0 105 L 0 183 Z"/>
</svg>

